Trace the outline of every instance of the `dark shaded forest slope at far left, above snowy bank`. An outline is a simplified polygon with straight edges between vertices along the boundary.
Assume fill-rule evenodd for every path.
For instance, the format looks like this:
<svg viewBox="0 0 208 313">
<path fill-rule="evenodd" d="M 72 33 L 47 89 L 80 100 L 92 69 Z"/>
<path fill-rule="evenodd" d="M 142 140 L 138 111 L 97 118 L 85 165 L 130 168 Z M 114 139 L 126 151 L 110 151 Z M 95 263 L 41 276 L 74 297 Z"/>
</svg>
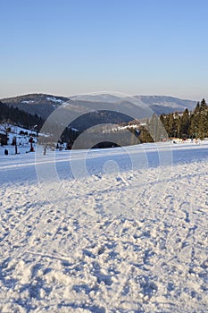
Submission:
<svg viewBox="0 0 208 313">
<path fill-rule="evenodd" d="M 29 114 L 18 107 L 7 106 L 0 101 L 0 123 L 12 123 L 27 129 L 37 125 L 39 131 L 44 120 L 37 114 Z"/>
</svg>

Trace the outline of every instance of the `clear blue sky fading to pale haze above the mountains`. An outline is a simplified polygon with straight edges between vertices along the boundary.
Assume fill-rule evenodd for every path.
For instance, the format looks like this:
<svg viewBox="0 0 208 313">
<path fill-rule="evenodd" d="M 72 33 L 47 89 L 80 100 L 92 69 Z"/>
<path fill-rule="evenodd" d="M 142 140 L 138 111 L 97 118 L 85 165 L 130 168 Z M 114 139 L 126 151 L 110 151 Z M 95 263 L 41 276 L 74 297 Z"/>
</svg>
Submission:
<svg viewBox="0 0 208 313">
<path fill-rule="evenodd" d="M 207 0 L 0 0 L 0 98 L 208 100 Z"/>
</svg>

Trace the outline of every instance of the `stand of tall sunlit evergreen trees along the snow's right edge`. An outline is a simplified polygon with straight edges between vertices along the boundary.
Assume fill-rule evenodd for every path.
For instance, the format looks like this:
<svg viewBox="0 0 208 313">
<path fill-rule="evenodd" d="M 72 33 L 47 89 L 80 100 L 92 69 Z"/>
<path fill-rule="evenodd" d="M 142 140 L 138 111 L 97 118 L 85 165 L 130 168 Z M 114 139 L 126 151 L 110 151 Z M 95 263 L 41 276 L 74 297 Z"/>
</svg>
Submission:
<svg viewBox="0 0 208 313">
<path fill-rule="evenodd" d="M 203 99 L 194 111 L 186 109 L 183 113 L 154 114 L 140 126 L 139 140 L 153 142 L 168 138 L 201 139 L 208 137 L 208 106 Z"/>
</svg>

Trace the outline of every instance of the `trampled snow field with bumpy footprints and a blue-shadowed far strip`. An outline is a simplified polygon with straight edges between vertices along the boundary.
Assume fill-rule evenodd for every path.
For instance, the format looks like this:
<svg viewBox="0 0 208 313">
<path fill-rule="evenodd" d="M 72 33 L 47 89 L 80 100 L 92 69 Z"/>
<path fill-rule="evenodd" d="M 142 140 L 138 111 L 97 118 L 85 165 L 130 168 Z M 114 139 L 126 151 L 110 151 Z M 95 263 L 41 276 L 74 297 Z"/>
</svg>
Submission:
<svg viewBox="0 0 208 313">
<path fill-rule="evenodd" d="M 207 311 L 208 141 L 20 152 L 0 148 L 1 312 Z"/>
</svg>

